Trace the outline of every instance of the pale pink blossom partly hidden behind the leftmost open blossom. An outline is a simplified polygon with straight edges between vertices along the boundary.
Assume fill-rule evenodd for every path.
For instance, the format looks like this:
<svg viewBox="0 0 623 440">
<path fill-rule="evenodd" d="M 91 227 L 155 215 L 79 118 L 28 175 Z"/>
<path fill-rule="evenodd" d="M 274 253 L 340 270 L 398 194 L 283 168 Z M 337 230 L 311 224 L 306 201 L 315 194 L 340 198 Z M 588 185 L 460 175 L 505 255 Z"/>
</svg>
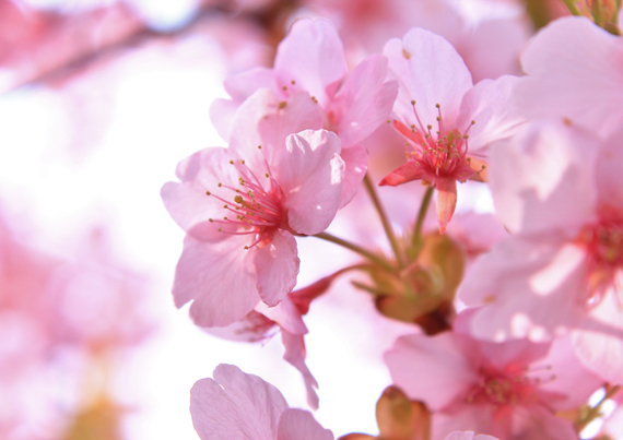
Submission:
<svg viewBox="0 0 623 440">
<path fill-rule="evenodd" d="M 346 165 L 342 204 L 355 194 L 367 168 L 361 141 L 385 122 L 396 99 L 396 81 L 387 80 L 387 59 L 373 55 L 348 74 L 342 41 L 326 20 L 297 20 L 280 43 L 274 68 L 256 68 L 225 80 L 232 99 L 218 99 L 211 119 L 223 139 L 233 133 L 232 115 L 254 92 L 271 90 L 279 100 L 308 92 L 324 129 L 342 142 Z"/>
</svg>

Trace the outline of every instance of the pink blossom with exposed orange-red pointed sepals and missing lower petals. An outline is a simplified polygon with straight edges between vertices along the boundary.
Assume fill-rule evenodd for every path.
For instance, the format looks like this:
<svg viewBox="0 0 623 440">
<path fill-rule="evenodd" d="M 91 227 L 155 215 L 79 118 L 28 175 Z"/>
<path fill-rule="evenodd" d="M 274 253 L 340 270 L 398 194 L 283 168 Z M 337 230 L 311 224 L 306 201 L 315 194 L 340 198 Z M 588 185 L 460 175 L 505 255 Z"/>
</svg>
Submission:
<svg viewBox="0 0 623 440">
<path fill-rule="evenodd" d="M 420 28 L 409 31 L 402 40 L 389 40 L 384 53 L 400 84 L 393 126 L 410 150 L 407 163 L 379 185 L 422 180 L 435 186 L 443 234 L 455 212 L 457 180 L 484 169 L 489 144 L 513 135 L 522 122 L 510 102 L 516 79 L 503 76 L 473 86 L 452 46 Z"/>
</svg>

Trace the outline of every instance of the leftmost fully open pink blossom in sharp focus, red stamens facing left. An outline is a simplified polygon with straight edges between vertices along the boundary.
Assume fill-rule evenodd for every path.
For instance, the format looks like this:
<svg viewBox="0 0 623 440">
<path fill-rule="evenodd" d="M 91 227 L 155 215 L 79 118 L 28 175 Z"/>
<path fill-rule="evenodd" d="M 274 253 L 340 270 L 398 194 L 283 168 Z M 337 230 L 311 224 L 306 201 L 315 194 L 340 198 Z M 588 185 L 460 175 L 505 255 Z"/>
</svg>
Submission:
<svg viewBox="0 0 623 440">
<path fill-rule="evenodd" d="M 338 136 L 304 130 L 316 120 L 306 93 L 278 102 L 258 91 L 235 115 L 230 148 L 193 154 L 177 167 L 181 182 L 163 187 L 165 206 L 187 233 L 175 304 L 193 299 L 198 325 L 228 325 L 260 300 L 277 306 L 296 284 L 293 235 L 329 226 L 344 179 Z"/>
</svg>

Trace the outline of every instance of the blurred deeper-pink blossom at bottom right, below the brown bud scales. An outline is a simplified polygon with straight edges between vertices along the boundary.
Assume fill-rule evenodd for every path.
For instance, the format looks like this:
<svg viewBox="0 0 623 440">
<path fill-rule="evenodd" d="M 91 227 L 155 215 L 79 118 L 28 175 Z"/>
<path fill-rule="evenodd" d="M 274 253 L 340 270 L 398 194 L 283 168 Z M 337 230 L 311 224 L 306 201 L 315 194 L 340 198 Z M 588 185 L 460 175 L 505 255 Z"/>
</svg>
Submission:
<svg viewBox="0 0 623 440">
<path fill-rule="evenodd" d="M 395 384 L 433 413 L 432 440 L 467 429 L 499 440 L 577 439 L 554 412 L 584 404 L 602 382 L 576 360 L 568 340 L 551 349 L 526 340 L 477 341 L 471 316 L 459 314 L 452 332 L 402 336 L 385 356 Z"/>
</svg>

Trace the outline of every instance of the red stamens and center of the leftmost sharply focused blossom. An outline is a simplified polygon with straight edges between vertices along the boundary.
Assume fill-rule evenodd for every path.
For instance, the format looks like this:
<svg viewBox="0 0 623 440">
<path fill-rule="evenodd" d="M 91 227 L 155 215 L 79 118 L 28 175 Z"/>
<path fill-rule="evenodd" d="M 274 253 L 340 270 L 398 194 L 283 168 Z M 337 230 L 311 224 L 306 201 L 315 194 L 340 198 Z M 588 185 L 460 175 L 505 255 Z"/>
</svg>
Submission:
<svg viewBox="0 0 623 440">
<path fill-rule="evenodd" d="M 259 147 L 261 148 L 261 146 Z M 265 160 L 266 163 L 266 160 Z M 219 231 L 233 235 L 254 235 L 256 239 L 245 249 L 270 242 L 272 231 L 283 224 L 283 193 L 279 183 L 265 173 L 268 185 L 262 185 L 245 160 L 230 160 L 238 176 L 238 188 L 219 182 L 220 193 L 205 191 L 205 194 L 224 203 L 225 216 L 209 218 L 218 224 Z M 269 169 L 268 163 L 266 163 Z"/>
</svg>

